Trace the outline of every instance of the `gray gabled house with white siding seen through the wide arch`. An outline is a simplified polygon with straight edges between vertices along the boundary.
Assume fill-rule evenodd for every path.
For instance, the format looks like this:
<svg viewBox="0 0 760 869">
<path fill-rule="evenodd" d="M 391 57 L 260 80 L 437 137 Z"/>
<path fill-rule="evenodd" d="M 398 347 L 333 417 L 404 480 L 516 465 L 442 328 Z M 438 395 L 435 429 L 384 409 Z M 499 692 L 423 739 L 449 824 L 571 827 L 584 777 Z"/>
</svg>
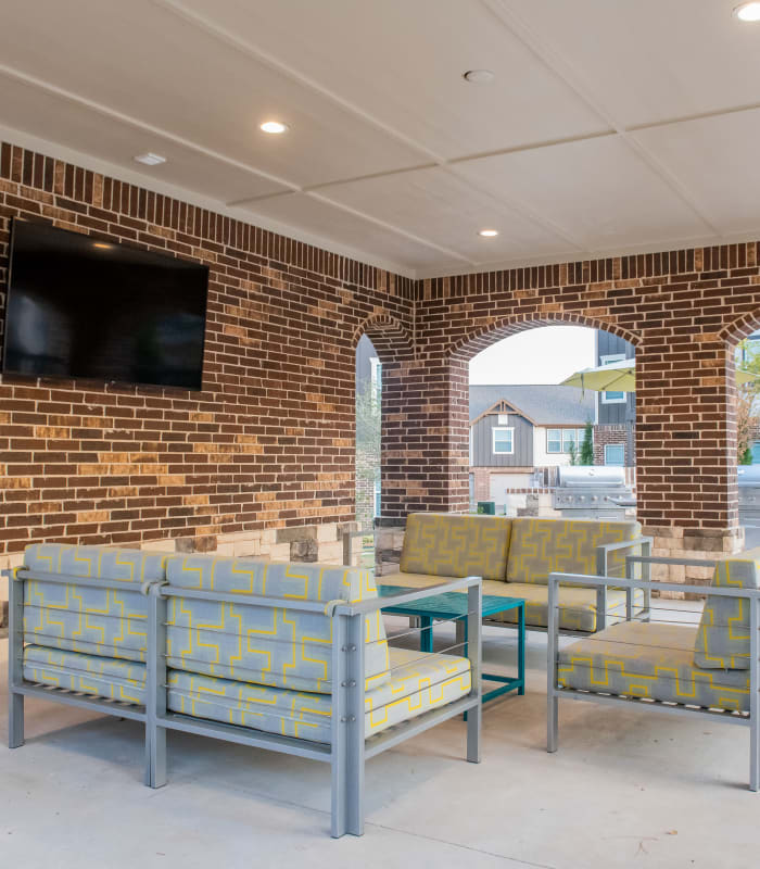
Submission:
<svg viewBox="0 0 760 869">
<path fill-rule="evenodd" d="M 470 499 L 504 502 L 507 489 L 536 484 L 536 469 L 570 463 L 596 393 L 571 387 L 470 386 Z"/>
</svg>

